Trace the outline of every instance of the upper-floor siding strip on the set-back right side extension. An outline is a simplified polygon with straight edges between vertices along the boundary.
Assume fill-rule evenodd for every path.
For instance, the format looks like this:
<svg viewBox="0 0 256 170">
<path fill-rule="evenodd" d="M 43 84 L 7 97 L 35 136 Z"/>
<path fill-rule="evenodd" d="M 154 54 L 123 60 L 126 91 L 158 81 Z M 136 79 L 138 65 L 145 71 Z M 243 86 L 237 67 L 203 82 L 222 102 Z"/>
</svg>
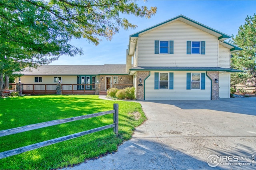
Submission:
<svg viewBox="0 0 256 170">
<path fill-rule="evenodd" d="M 222 68 L 230 68 L 230 49 L 219 45 L 218 66 Z"/>
</svg>

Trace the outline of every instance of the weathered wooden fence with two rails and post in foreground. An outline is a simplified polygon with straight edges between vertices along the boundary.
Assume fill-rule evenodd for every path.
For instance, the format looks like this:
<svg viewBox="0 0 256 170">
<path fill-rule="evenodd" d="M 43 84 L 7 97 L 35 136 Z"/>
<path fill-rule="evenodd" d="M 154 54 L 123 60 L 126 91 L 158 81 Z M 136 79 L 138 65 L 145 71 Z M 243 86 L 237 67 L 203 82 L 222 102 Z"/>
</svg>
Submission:
<svg viewBox="0 0 256 170">
<path fill-rule="evenodd" d="M 94 132 L 98 132 L 98 131 L 102 131 L 102 130 L 105 130 L 105 129 L 114 128 L 113 130 L 117 135 L 118 134 L 118 104 L 114 104 L 114 109 L 109 110 L 109 111 L 93 113 L 93 114 L 89 114 L 89 115 L 82 115 L 82 116 L 77 116 L 77 117 L 71 117 L 71 118 L 67 118 L 67 119 L 60 119 L 60 120 L 43 122 L 43 123 L 37 123 L 37 124 L 33 124 L 33 125 L 26 125 L 26 126 L 22 126 L 22 127 L 17 127 L 17 128 L 13 128 L 13 129 L 7 129 L 7 130 L 0 131 L 0 137 L 3 137 L 3 136 L 16 134 L 16 133 L 31 131 L 31 130 L 34 130 L 34 129 L 40 129 L 40 128 L 43 128 L 43 127 L 59 125 L 59 124 L 62 124 L 62 123 L 68 123 L 68 122 L 82 120 L 82 119 L 88 119 L 88 118 L 92 118 L 92 117 L 98 117 L 98 116 L 111 114 L 111 113 L 114 113 L 114 114 L 113 114 L 113 123 L 110 124 L 110 125 L 105 125 L 105 126 L 98 127 L 98 128 L 95 128 L 95 129 L 90 129 L 90 130 L 87 130 L 87 131 L 74 133 L 72 135 L 67 135 L 67 136 L 64 136 L 64 137 L 59 137 L 59 138 L 51 139 L 51 140 L 48 140 L 48 141 L 36 143 L 36 144 L 33 144 L 33 145 L 28 145 L 28 146 L 25 146 L 25 147 L 20 147 L 20 148 L 8 150 L 8 151 L 5 151 L 5 152 L 1 152 L 0 153 L 0 159 L 6 158 L 6 157 L 9 157 L 9 156 L 13 156 L 13 155 L 16 155 L 16 154 L 20 154 L 20 153 L 23 153 L 23 152 L 27 152 L 27 151 L 30 151 L 30 150 L 38 149 L 38 148 L 41 148 L 41 147 L 46 147 L 48 145 L 60 143 L 60 142 L 63 142 L 63 141 L 67 141 L 67 140 L 70 140 L 70 139 L 74 139 L 74 138 L 77 138 L 77 137 L 81 137 L 81 136 L 88 135 L 90 133 L 94 133 Z"/>
</svg>

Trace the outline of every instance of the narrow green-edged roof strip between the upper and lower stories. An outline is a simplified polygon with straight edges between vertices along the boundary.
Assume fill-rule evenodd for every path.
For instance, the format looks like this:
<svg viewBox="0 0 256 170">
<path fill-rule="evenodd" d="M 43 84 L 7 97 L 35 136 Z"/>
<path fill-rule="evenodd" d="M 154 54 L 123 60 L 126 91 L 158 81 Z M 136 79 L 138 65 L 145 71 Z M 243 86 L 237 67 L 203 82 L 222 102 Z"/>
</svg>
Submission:
<svg viewBox="0 0 256 170">
<path fill-rule="evenodd" d="M 226 72 L 243 72 L 232 68 L 221 67 L 134 67 L 130 71 L 226 71 Z"/>
</svg>

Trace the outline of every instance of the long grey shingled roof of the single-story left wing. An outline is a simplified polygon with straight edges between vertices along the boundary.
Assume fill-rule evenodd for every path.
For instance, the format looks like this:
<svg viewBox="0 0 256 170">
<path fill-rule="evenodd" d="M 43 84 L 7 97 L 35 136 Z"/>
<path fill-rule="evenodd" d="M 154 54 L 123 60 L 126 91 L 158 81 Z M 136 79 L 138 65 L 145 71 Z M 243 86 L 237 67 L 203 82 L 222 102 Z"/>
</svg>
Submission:
<svg viewBox="0 0 256 170">
<path fill-rule="evenodd" d="M 105 65 L 42 65 L 38 68 L 26 68 L 19 72 L 23 75 L 98 75 L 128 74 L 126 64 Z"/>
</svg>

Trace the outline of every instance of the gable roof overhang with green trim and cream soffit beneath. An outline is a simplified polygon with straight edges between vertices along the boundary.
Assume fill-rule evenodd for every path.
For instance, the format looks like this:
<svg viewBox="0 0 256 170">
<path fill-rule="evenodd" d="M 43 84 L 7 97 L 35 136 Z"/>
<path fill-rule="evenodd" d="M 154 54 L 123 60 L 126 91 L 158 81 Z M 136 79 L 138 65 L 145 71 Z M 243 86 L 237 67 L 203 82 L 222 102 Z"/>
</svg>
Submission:
<svg viewBox="0 0 256 170">
<path fill-rule="evenodd" d="M 164 22 L 158 23 L 158 24 L 156 24 L 156 25 L 154 25 L 152 27 L 143 29 L 142 31 L 139 31 L 137 33 L 134 33 L 134 34 L 130 35 L 130 37 L 129 37 L 129 45 L 128 45 L 128 54 L 130 55 L 130 51 L 131 51 L 131 53 L 133 53 L 133 51 L 135 50 L 136 39 L 138 39 L 139 35 L 141 35 L 143 33 L 147 33 L 149 31 L 152 31 L 154 29 L 157 29 L 159 27 L 162 27 L 162 26 L 167 25 L 169 23 L 172 23 L 174 21 L 182 21 L 182 22 L 184 22 L 184 23 L 186 23 L 188 25 L 196 27 L 196 28 L 198 28 L 198 29 L 200 29 L 202 31 L 205 31 L 205 32 L 207 32 L 207 33 L 209 33 L 211 35 L 214 35 L 214 36 L 218 37 L 218 40 L 220 40 L 220 41 L 224 41 L 224 40 L 229 39 L 231 37 L 230 35 L 227 35 L 227 34 L 222 33 L 222 32 L 220 32 L 220 31 L 218 31 L 216 29 L 208 27 L 208 26 L 206 26 L 206 25 L 204 25 L 202 23 L 199 23 L 199 22 L 197 22 L 195 20 L 192 20 L 192 19 L 190 19 L 190 18 L 188 18 L 186 16 L 179 15 L 179 16 L 176 16 L 174 18 L 171 18 L 170 20 L 166 20 Z"/>
</svg>

